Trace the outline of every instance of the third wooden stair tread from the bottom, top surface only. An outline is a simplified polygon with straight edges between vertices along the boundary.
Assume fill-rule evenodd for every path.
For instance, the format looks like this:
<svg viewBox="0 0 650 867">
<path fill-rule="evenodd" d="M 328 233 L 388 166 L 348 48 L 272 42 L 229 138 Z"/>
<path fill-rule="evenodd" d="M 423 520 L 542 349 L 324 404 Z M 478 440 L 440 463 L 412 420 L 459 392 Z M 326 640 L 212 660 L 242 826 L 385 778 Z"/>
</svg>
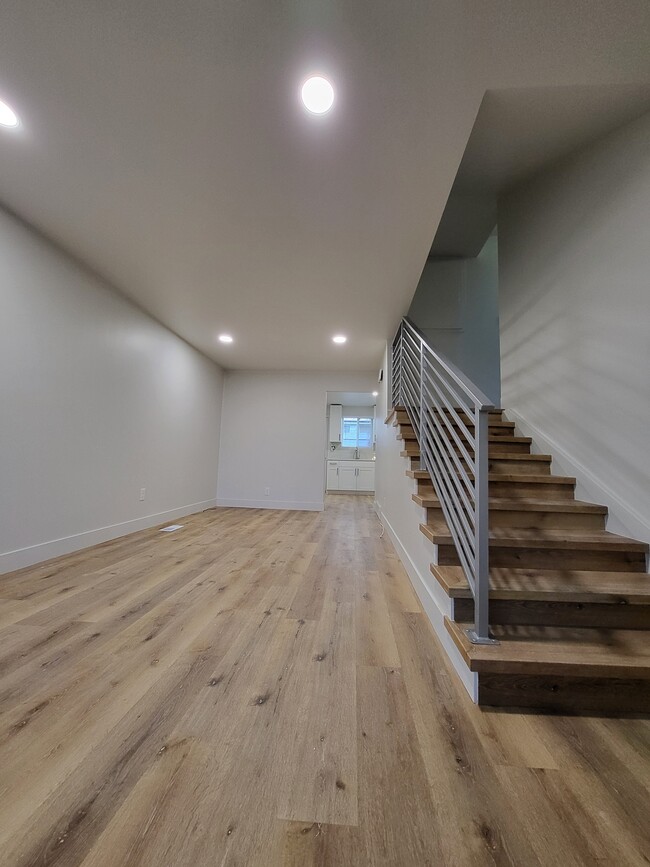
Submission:
<svg viewBox="0 0 650 867">
<path fill-rule="evenodd" d="M 421 524 L 426 528 L 425 535 L 435 544 L 453 545 L 449 528 L 444 521 L 431 521 Z M 424 532 L 424 529 L 423 529 Z M 509 548 L 580 548 L 581 550 L 616 551 L 624 548 L 626 551 L 647 552 L 650 546 L 638 539 L 629 539 L 609 533 L 607 530 L 572 530 L 572 529 L 528 529 L 519 527 L 493 527 L 490 529 L 490 543 L 499 547 Z"/>
</svg>

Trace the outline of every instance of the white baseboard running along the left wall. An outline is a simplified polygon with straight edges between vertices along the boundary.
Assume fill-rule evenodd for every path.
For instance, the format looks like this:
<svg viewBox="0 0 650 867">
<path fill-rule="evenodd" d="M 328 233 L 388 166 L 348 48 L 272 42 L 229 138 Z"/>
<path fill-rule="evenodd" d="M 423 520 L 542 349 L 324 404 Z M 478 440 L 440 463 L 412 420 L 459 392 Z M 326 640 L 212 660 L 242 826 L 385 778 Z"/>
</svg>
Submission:
<svg viewBox="0 0 650 867">
<path fill-rule="evenodd" d="M 204 500 L 201 503 L 191 503 L 179 506 L 177 509 L 168 509 L 165 512 L 157 512 L 155 515 L 145 515 L 143 518 L 134 518 L 131 521 L 122 521 L 119 524 L 110 524 L 108 527 L 98 527 L 96 530 L 85 530 L 83 533 L 75 533 L 62 539 L 52 539 L 49 542 L 39 542 L 27 548 L 17 548 L 15 551 L 6 551 L 0 554 L 0 575 L 13 572 L 16 569 L 24 569 L 43 560 L 51 560 L 53 557 L 61 557 L 71 554 L 91 545 L 99 545 L 119 536 L 127 536 L 129 533 L 137 533 L 138 530 L 147 530 L 156 524 L 182 518 L 185 515 L 193 515 L 212 509 L 216 505 L 215 500 Z"/>
</svg>

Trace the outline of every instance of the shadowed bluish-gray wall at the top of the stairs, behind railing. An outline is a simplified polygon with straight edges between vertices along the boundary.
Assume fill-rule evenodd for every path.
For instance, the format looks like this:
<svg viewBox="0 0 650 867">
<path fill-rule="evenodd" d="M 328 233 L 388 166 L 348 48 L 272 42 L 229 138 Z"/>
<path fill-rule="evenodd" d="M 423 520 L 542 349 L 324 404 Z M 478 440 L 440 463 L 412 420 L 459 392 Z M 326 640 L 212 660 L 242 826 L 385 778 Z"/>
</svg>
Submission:
<svg viewBox="0 0 650 867">
<path fill-rule="evenodd" d="M 501 400 L 498 242 L 471 259 L 430 259 L 408 315 L 496 406 Z"/>
</svg>

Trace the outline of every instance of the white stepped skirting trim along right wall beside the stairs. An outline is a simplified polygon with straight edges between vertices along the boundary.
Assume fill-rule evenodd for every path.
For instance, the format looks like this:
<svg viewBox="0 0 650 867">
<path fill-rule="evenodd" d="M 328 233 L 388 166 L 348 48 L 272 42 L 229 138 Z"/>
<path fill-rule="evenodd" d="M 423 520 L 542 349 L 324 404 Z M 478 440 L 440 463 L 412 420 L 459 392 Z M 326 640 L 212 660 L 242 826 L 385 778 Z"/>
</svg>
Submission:
<svg viewBox="0 0 650 867">
<path fill-rule="evenodd" d="M 511 421 L 514 421 L 524 436 L 532 438 L 531 451 L 553 456 L 554 475 L 575 477 L 576 499 L 608 506 L 607 529 L 611 533 L 650 542 L 650 524 L 639 512 L 624 503 L 618 494 L 603 484 L 591 470 L 566 452 L 559 443 L 542 433 L 539 428 L 533 428 L 518 412 L 507 409 L 506 414 L 512 417 Z"/>
</svg>

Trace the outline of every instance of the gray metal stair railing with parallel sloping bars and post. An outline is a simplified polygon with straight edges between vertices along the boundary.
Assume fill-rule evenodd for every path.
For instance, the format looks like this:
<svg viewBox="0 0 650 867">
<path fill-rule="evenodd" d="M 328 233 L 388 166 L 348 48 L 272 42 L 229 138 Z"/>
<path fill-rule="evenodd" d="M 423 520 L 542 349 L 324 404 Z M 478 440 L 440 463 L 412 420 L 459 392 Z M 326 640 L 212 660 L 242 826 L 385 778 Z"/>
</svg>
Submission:
<svg viewBox="0 0 650 867">
<path fill-rule="evenodd" d="M 455 364 L 404 318 L 391 356 L 393 406 L 403 406 L 420 443 L 420 466 L 433 483 L 474 596 L 475 644 L 489 634 L 488 426 L 494 405 Z"/>
</svg>

